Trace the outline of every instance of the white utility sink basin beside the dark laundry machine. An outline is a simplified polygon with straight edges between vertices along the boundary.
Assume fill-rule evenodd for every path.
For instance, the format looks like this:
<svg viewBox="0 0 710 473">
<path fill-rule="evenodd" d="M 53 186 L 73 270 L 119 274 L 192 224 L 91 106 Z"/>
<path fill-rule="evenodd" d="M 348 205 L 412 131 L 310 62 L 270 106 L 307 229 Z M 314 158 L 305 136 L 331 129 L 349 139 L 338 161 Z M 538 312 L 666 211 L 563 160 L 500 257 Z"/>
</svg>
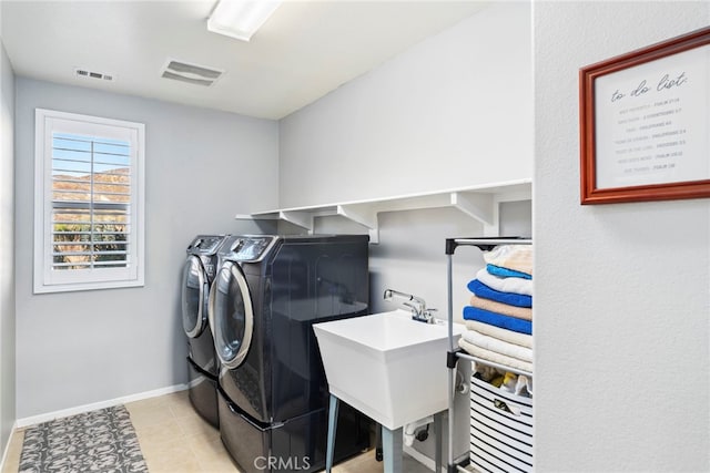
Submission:
<svg viewBox="0 0 710 473">
<path fill-rule="evenodd" d="M 405 310 L 313 325 L 331 394 L 395 430 L 448 407 L 448 329 Z M 463 327 L 454 323 L 455 347 Z"/>
</svg>

